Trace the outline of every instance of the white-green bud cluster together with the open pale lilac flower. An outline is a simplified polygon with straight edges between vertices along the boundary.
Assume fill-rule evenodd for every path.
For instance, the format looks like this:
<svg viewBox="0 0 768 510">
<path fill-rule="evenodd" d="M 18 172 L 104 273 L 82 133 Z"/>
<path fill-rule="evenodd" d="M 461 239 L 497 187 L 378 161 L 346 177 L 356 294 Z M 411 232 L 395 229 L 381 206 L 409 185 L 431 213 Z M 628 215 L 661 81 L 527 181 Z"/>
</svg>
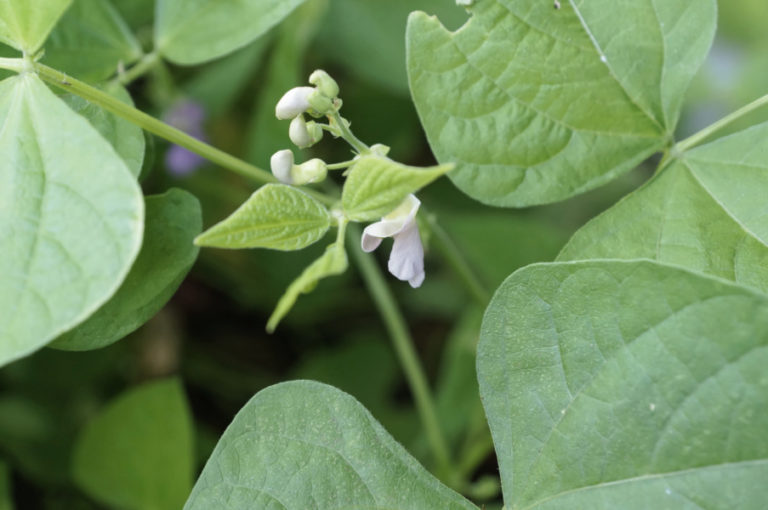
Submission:
<svg viewBox="0 0 768 510">
<path fill-rule="evenodd" d="M 367 147 L 351 135 L 349 123 L 338 115 L 342 104 L 338 97 L 339 86 L 328 73 L 322 70 L 315 71 L 309 77 L 309 83 L 314 87 L 292 88 L 280 98 L 275 107 L 275 115 L 278 119 L 291 121 L 288 136 L 297 147 L 304 149 L 313 146 L 322 139 L 323 130 L 326 130 L 350 142 L 359 153 L 357 157 L 363 154 L 386 156 L 388 147 L 381 144 Z M 305 115 L 315 119 L 327 117 L 329 123 L 307 121 Z M 357 143 L 352 143 L 350 138 Z M 361 146 L 364 150 L 361 150 Z M 270 160 L 274 176 L 284 184 L 295 186 L 320 182 L 326 178 L 328 170 L 344 166 L 349 165 L 329 166 L 317 158 L 296 164 L 290 149 L 277 151 Z M 398 279 L 407 281 L 414 288 L 421 286 L 424 281 L 424 247 L 416 223 L 416 213 L 420 205 L 418 198 L 409 195 L 380 221 L 368 225 L 361 239 L 363 251 L 371 252 L 385 237 L 393 238 L 394 243 L 388 263 L 389 272 Z"/>
</svg>

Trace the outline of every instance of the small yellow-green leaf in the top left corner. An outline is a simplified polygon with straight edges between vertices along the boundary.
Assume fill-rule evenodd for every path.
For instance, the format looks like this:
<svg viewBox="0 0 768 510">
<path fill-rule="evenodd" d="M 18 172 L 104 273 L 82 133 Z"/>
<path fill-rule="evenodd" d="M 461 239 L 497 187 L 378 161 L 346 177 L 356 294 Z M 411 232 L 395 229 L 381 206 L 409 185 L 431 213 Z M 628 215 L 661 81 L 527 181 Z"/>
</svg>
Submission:
<svg viewBox="0 0 768 510">
<path fill-rule="evenodd" d="M 72 0 L 0 0 L 0 42 L 34 55 Z"/>
</svg>

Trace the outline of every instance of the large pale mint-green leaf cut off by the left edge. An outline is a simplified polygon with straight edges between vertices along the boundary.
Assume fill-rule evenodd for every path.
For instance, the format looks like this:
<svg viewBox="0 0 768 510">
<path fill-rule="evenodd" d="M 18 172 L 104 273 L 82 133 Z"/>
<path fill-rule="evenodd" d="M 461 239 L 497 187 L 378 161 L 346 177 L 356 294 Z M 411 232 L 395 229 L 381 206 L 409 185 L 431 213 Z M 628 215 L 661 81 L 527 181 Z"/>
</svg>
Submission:
<svg viewBox="0 0 768 510">
<path fill-rule="evenodd" d="M 141 190 L 33 74 L 0 83 L 0 365 L 82 322 L 139 252 Z"/>
</svg>

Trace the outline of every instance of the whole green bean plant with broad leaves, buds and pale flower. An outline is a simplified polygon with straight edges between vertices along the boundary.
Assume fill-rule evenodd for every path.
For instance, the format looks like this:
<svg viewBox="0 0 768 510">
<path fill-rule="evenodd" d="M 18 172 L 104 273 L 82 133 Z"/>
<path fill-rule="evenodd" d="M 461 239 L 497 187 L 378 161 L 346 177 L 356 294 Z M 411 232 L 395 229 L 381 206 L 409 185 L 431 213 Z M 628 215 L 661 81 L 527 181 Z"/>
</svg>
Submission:
<svg viewBox="0 0 768 510">
<path fill-rule="evenodd" d="M 219 60 L 327 3 L 157 0 L 142 35 L 110 0 L 0 0 L 0 365 L 126 337 L 169 301 L 200 247 L 297 251 L 332 230 L 266 329 L 351 256 L 428 447 L 427 469 L 355 395 L 282 382 L 234 417 L 193 484 L 184 393 L 160 381 L 82 432 L 72 477 L 90 498 L 158 510 L 471 509 L 497 496 L 507 510 L 765 508 L 768 123 L 720 135 L 768 96 L 676 134 L 715 36 L 715 0 L 448 3 L 465 14 L 460 28 L 416 11 L 405 30 L 407 83 L 437 165 L 400 163 L 362 140 L 355 119 L 369 113 L 348 112 L 343 81 L 318 69 L 270 105 L 287 135 L 270 172 L 144 113 L 128 87 Z M 300 33 L 290 19 L 286 33 Z M 203 231 L 191 193 L 144 196 L 155 137 L 249 179 L 252 194 Z M 303 156 L 333 139 L 347 158 Z M 446 176 L 487 206 L 540 206 L 648 162 L 653 176 L 554 262 L 515 271 L 493 293 L 417 198 Z M 370 254 L 387 238 L 395 278 Z M 429 280 L 432 247 L 485 310 L 479 330 L 469 325 L 484 418 L 463 444 L 391 290 Z M 475 476 L 489 459 L 498 476 Z M 0 509 L 13 504 L 5 480 L 0 463 Z"/>
</svg>

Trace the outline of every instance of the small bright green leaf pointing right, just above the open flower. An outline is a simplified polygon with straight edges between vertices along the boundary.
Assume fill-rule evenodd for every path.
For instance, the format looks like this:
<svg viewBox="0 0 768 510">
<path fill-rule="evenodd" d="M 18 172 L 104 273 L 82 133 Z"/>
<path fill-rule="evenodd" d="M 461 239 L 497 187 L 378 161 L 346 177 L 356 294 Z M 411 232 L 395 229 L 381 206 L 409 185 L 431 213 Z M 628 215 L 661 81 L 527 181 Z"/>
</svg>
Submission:
<svg viewBox="0 0 768 510">
<path fill-rule="evenodd" d="M 363 156 L 349 170 L 341 205 L 352 221 L 377 219 L 452 169 L 452 164 L 418 168 L 380 156 Z"/>
</svg>

